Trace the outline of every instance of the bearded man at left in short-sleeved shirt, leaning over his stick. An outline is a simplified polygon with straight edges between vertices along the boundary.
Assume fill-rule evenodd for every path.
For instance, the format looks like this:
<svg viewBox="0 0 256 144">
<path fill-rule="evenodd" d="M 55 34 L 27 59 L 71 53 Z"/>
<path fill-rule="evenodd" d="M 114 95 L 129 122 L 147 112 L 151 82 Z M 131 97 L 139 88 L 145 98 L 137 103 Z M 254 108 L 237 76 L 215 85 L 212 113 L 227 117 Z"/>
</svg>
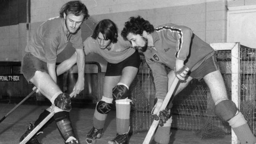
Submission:
<svg viewBox="0 0 256 144">
<path fill-rule="evenodd" d="M 60 9 L 60 17 L 50 18 L 39 26 L 26 46 L 26 54 L 21 65 L 21 72 L 26 80 L 33 83 L 52 103 L 51 109 L 55 112 L 54 120 L 66 144 L 78 144 L 78 140 L 69 118 L 70 96 L 63 93 L 57 85 L 56 59 L 67 43 L 71 42 L 78 54 L 78 81 L 73 89 L 74 96 L 76 96 L 84 89 L 85 55 L 80 26 L 88 17 L 88 10 L 82 2 L 70 1 L 64 4 Z M 41 113 L 34 125 L 30 124 L 20 141 L 50 114 L 51 109 Z M 27 144 L 40 144 L 37 135 L 32 137 Z"/>
</svg>

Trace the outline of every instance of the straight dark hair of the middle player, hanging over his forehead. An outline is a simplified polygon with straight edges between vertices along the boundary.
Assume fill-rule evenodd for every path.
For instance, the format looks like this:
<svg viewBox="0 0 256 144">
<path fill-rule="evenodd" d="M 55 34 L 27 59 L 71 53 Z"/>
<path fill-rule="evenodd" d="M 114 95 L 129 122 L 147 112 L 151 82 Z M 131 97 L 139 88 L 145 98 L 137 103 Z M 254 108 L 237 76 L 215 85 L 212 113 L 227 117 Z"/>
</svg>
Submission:
<svg viewBox="0 0 256 144">
<path fill-rule="evenodd" d="M 93 39 L 96 39 L 99 33 L 102 33 L 104 39 L 111 40 L 112 43 L 117 42 L 117 26 L 113 21 L 109 19 L 101 20 L 95 27 L 93 35 L 91 37 Z"/>
</svg>

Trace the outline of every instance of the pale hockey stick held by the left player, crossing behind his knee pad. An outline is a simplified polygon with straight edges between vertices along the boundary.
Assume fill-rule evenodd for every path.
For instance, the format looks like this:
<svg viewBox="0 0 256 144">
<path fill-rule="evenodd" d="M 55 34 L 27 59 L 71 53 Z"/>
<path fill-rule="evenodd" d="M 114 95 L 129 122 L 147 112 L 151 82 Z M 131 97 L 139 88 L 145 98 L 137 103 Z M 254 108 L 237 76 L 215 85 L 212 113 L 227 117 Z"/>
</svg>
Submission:
<svg viewBox="0 0 256 144">
<path fill-rule="evenodd" d="M 71 92 L 70 97 L 72 98 L 74 96 L 74 92 Z M 50 120 L 50 118 L 52 118 L 52 116 L 54 115 L 54 111 L 52 111 L 48 116 L 46 116 L 46 118 L 44 120 L 42 120 L 42 122 L 40 122 L 40 124 L 38 124 L 21 142 L 20 144 L 26 144 L 26 142 L 28 142 L 28 140 L 30 140 L 30 138 L 32 138 L 35 133 L 37 133 L 37 131 L 39 131 L 39 129 L 41 129 L 41 127 L 43 127 L 46 122 L 48 122 L 48 120 Z"/>
</svg>

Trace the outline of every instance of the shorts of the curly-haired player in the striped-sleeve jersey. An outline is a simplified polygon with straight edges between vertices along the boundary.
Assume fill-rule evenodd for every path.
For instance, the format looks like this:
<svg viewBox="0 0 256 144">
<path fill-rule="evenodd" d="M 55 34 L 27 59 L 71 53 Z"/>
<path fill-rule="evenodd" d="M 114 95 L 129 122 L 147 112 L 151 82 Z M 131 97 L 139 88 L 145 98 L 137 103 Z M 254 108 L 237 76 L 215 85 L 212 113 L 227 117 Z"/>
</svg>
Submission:
<svg viewBox="0 0 256 144">
<path fill-rule="evenodd" d="M 206 59 L 197 69 L 189 74 L 189 76 L 198 79 L 200 81 L 204 76 L 211 72 L 215 72 L 219 70 L 219 66 L 217 64 L 217 60 L 215 59 L 215 55 Z"/>
</svg>

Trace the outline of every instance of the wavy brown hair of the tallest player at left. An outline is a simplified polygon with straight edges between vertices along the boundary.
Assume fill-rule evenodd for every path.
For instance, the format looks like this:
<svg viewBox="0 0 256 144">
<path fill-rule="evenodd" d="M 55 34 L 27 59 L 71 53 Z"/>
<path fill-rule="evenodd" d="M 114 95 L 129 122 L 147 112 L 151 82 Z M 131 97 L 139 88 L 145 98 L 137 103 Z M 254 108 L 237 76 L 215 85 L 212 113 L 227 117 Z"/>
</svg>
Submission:
<svg viewBox="0 0 256 144">
<path fill-rule="evenodd" d="M 66 15 L 73 14 L 75 16 L 83 15 L 83 20 L 86 20 L 90 16 L 86 6 L 80 0 L 69 1 L 64 4 L 59 11 L 59 16 L 63 18 L 64 13 Z"/>
</svg>

